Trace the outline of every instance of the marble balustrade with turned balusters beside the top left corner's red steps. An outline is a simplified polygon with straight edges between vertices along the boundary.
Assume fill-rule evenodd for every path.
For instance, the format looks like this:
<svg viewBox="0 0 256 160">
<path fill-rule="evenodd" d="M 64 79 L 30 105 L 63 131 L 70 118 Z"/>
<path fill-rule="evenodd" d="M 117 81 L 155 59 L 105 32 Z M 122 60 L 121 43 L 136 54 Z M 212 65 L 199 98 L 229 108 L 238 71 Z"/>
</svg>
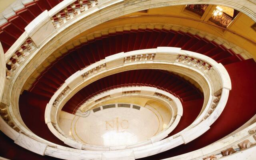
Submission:
<svg viewBox="0 0 256 160">
<path fill-rule="evenodd" d="M 60 25 L 68 22 L 68 20 L 72 21 L 75 16 L 81 14 L 82 12 L 92 8 L 92 6 L 98 5 L 98 0 L 92 2 L 88 0 L 88 3 L 84 6 L 83 0 L 78 0 L 80 5 L 79 9 L 74 4 L 76 0 L 64 0 L 52 8 L 50 11 L 44 11 L 38 17 L 36 17 L 28 26 L 25 27 L 25 32 L 16 40 L 16 42 L 11 46 L 11 48 L 5 54 L 6 64 L 10 66 L 10 69 L 6 68 L 6 78 L 10 79 L 14 74 L 16 68 L 20 66 L 20 64 L 25 60 L 30 53 L 36 52 L 36 49 L 40 47 L 40 42 L 38 41 L 38 35 L 35 35 L 36 32 L 40 32 L 40 30 L 46 29 L 52 30 L 52 32 L 56 32 L 49 26 L 49 18 L 52 22 L 52 25 L 55 28 L 58 28 Z M 71 6 L 72 13 L 68 13 L 67 6 Z M 60 11 L 63 11 L 65 14 L 65 18 L 61 17 Z M 58 18 L 58 21 L 54 21 L 54 16 Z M 48 35 L 47 35 L 48 36 Z M 46 38 L 46 37 L 44 37 Z M 35 42 L 33 41 L 35 40 Z"/>
</svg>

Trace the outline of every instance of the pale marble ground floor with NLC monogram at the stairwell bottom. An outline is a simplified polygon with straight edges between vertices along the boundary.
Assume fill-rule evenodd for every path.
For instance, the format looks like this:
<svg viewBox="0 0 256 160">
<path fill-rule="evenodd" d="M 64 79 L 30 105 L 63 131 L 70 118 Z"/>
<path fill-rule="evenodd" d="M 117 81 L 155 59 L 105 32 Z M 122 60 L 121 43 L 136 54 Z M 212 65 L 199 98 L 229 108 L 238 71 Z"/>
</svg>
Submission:
<svg viewBox="0 0 256 160">
<path fill-rule="evenodd" d="M 90 110 L 87 117 L 60 118 L 64 132 L 84 144 L 98 146 L 122 146 L 150 139 L 163 129 L 163 122 L 156 110 L 140 107 L 106 108 Z M 68 119 L 69 122 L 65 122 Z M 71 128 L 70 128 L 71 125 Z M 70 131 L 68 131 L 70 130 Z"/>
</svg>

